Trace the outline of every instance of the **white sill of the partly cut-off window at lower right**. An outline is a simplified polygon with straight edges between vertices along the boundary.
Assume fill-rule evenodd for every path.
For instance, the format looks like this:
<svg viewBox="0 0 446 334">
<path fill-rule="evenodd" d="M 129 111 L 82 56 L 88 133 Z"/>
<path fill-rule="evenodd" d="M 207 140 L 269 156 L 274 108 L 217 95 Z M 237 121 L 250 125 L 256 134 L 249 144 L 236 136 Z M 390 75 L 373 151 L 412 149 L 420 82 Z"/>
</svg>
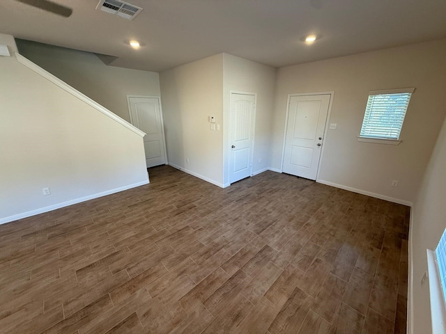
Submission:
<svg viewBox="0 0 446 334">
<path fill-rule="evenodd" d="M 429 276 L 429 296 L 431 300 L 432 333 L 446 333 L 446 310 L 443 291 L 435 261 L 435 252 L 427 250 L 427 271 Z"/>
</svg>

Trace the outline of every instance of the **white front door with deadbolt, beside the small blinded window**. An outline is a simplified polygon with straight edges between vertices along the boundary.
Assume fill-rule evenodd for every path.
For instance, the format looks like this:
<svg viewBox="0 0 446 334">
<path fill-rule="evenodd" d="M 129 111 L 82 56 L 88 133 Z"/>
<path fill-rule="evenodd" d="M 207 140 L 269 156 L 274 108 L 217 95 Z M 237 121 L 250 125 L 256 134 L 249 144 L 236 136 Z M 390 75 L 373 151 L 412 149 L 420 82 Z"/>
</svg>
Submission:
<svg viewBox="0 0 446 334">
<path fill-rule="evenodd" d="M 330 95 L 292 96 L 286 124 L 284 173 L 316 180 Z"/>
</svg>

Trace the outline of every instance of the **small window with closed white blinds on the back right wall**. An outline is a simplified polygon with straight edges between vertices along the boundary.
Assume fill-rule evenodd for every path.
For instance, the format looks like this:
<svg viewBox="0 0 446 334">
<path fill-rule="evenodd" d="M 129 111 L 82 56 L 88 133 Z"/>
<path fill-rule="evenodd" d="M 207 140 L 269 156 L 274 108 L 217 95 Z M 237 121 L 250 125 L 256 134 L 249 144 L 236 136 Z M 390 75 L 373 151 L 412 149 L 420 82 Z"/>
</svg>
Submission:
<svg viewBox="0 0 446 334">
<path fill-rule="evenodd" d="M 362 121 L 359 138 L 398 141 L 410 96 L 415 88 L 394 90 L 374 90 L 369 92 L 369 100 Z M 364 141 L 364 140 L 362 140 Z M 399 141 L 398 141 L 399 143 Z"/>
</svg>

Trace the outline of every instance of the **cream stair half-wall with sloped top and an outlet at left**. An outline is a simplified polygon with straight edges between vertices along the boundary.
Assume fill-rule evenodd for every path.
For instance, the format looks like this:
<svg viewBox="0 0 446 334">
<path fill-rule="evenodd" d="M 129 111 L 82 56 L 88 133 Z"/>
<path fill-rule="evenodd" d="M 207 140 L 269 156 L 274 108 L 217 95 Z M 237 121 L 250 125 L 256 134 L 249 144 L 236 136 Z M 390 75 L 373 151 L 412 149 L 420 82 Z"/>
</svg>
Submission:
<svg viewBox="0 0 446 334">
<path fill-rule="evenodd" d="M 16 50 L 12 36 L 0 44 Z M 15 56 L 0 73 L 0 223 L 148 182 L 139 134 Z"/>
</svg>

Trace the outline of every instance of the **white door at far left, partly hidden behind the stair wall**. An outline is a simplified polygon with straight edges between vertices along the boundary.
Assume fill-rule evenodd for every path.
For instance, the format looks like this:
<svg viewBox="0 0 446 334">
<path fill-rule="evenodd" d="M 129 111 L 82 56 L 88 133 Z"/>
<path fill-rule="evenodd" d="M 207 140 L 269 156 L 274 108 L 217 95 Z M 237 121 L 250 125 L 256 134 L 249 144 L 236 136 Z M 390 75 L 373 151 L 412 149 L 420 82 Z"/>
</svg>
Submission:
<svg viewBox="0 0 446 334">
<path fill-rule="evenodd" d="M 146 132 L 144 151 L 147 168 L 166 164 L 160 100 L 157 97 L 128 97 L 132 125 Z"/>
</svg>

